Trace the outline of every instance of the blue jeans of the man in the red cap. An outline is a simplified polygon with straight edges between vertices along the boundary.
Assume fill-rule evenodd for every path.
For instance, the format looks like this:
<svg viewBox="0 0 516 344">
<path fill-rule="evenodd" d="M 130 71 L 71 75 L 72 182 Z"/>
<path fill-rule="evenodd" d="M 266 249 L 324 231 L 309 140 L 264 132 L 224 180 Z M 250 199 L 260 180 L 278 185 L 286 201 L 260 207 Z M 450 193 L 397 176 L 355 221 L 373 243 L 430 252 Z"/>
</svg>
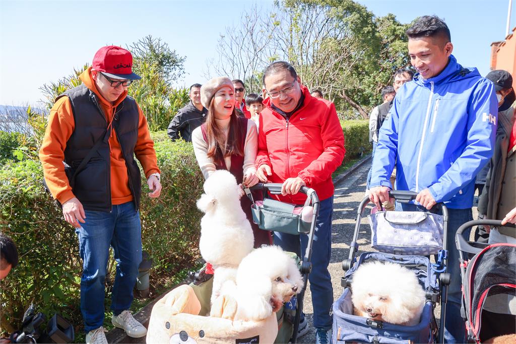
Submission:
<svg viewBox="0 0 516 344">
<path fill-rule="evenodd" d="M 133 302 L 133 287 L 141 263 L 140 214 L 133 202 L 114 205 L 111 212 L 86 210 L 86 223 L 76 228 L 83 259 L 80 279 L 80 310 L 89 332 L 104 322 L 104 281 L 109 247 L 114 250 L 117 273 L 111 310 L 119 315 Z"/>
</svg>

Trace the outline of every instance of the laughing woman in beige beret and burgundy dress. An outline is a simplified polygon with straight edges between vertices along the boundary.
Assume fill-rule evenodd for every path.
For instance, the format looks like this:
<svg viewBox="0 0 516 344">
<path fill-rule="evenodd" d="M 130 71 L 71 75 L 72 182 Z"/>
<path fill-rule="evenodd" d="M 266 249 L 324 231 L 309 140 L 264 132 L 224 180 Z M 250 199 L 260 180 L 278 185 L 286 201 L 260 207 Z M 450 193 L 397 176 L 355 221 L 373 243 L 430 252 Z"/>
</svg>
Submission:
<svg viewBox="0 0 516 344">
<path fill-rule="evenodd" d="M 193 130 L 192 144 L 204 179 L 216 170 L 228 170 L 239 184 L 251 187 L 258 183 L 254 167 L 258 140 L 256 125 L 238 116 L 231 79 L 216 77 L 202 85 L 201 103 L 208 109 L 208 114 L 206 122 Z M 270 232 L 260 230 L 253 222 L 249 198 L 241 197 L 240 205 L 251 223 L 254 247 L 270 245 Z"/>
</svg>

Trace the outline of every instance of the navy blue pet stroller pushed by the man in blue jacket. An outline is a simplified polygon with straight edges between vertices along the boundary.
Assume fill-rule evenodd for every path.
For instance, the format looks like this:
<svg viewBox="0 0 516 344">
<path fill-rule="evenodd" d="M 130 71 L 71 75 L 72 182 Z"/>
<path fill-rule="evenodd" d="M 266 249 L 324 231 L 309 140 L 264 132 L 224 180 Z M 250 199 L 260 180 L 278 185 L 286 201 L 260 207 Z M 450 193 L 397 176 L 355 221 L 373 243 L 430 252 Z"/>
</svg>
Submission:
<svg viewBox="0 0 516 344">
<path fill-rule="evenodd" d="M 411 191 L 391 191 L 390 196 L 397 202 L 408 203 L 416 197 Z M 433 343 L 443 342 L 443 324 L 446 311 L 446 231 L 448 210 L 442 203 L 433 210 L 441 210 L 442 216 L 429 211 L 378 211 L 370 215 L 371 245 L 380 252 L 365 252 L 356 258 L 360 222 L 366 197 L 357 212 L 353 241 L 349 258 L 343 261 L 346 271 L 341 279 L 344 291 L 333 303 L 332 343 Z M 432 264 L 426 256 L 438 254 Z M 413 271 L 425 290 L 426 302 L 420 322 L 414 326 L 386 323 L 353 315 L 351 302 L 351 281 L 353 273 L 361 264 L 379 260 L 402 265 Z M 438 330 L 433 311 L 441 303 L 441 325 Z"/>
</svg>

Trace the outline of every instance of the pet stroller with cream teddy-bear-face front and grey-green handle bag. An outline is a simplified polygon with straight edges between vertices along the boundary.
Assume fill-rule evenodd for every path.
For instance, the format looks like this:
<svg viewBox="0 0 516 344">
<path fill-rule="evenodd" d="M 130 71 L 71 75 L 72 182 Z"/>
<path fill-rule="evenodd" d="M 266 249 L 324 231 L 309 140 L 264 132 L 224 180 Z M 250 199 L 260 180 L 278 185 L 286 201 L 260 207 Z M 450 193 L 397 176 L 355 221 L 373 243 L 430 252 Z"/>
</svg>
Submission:
<svg viewBox="0 0 516 344">
<path fill-rule="evenodd" d="M 281 193 L 281 184 L 257 184 L 251 189 L 277 194 Z M 306 285 L 311 270 L 312 240 L 319 212 L 316 192 L 307 187 L 300 190 L 307 194 L 305 205 L 311 204 L 313 207 L 311 222 L 305 222 L 301 218 L 303 207 L 271 199 L 254 202 L 251 190 L 245 191 L 253 202 L 253 219 L 261 229 L 298 235 L 308 234 L 308 247 L 302 260 L 297 253 L 289 253 L 298 261 Z M 190 272 L 188 282 L 187 285 L 174 288 L 154 305 L 149 321 L 148 343 L 287 343 L 291 340 L 296 342 L 304 288 L 297 298 L 287 302 L 276 314 L 261 323 L 253 323 L 209 317 L 213 272 L 207 271 L 206 266 L 197 272 Z"/>
</svg>

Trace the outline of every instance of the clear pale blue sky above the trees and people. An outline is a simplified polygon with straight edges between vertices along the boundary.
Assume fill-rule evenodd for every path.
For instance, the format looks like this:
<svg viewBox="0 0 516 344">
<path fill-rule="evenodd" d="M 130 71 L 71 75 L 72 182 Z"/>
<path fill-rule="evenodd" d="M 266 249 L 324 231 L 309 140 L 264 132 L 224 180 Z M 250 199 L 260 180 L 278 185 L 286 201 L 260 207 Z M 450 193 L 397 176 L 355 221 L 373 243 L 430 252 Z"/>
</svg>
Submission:
<svg viewBox="0 0 516 344">
<path fill-rule="evenodd" d="M 466 67 L 489 72 L 490 44 L 505 38 L 509 0 L 359 0 L 375 15 L 402 23 L 424 14 L 445 19 L 454 55 Z M 251 1 L 6 1 L 0 0 L 0 104 L 36 105 L 41 87 L 91 62 L 99 47 L 126 46 L 152 35 L 186 56 L 177 86 L 205 81 L 220 32 L 239 22 Z M 272 1 L 259 1 L 271 7 Z M 511 29 L 516 26 L 516 2 Z M 236 75 L 235 75 L 236 77 Z"/>
</svg>

